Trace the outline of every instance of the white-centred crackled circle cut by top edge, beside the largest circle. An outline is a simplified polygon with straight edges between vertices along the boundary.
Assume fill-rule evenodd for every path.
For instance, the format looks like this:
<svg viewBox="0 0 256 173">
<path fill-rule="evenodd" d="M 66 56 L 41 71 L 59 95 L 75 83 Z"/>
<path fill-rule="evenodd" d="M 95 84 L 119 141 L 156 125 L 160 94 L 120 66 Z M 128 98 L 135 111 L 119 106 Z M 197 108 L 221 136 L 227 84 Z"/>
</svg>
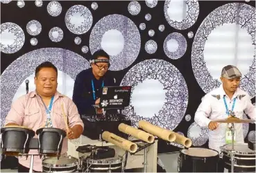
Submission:
<svg viewBox="0 0 256 173">
<path fill-rule="evenodd" d="M 184 8 L 186 6 L 186 8 Z M 164 3 L 164 16 L 173 28 L 185 30 L 195 24 L 199 15 L 199 3 L 197 0 L 173 1 Z"/>
</svg>

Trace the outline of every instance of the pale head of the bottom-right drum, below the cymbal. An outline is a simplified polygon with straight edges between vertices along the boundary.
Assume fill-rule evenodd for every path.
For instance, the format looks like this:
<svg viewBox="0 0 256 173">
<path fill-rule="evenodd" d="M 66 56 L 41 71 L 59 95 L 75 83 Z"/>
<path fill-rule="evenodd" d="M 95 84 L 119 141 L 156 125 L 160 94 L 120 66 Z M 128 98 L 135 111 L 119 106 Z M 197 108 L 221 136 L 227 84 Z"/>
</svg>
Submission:
<svg viewBox="0 0 256 173">
<path fill-rule="evenodd" d="M 232 144 L 224 145 L 221 149 L 223 152 L 230 152 L 232 150 Z M 255 151 L 248 148 L 247 143 L 235 143 L 234 151 L 236 154 L 255 154 Z"/>
</svg>

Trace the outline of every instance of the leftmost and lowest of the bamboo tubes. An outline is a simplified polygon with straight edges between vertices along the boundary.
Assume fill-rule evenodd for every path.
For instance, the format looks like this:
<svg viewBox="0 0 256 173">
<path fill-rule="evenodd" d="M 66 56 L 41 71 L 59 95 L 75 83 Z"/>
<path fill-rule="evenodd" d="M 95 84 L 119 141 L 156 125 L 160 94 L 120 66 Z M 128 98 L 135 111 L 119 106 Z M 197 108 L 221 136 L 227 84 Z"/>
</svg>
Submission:
<svg viewBox="0 0 256 173">
<path fill-rule="evenodd" d="M 112 134 L 109 131 L 104 131 L 102 134 L 102 138 L 114 145 L 117 145 L 117 147 L 120 147 L 121 149 L 124 149 L 131 153 L 136 152 L 138 148 L 136 143 L 132 143 L 130 142 L 130 140 L 121 138 L 120 136 Z"/>
</svg>

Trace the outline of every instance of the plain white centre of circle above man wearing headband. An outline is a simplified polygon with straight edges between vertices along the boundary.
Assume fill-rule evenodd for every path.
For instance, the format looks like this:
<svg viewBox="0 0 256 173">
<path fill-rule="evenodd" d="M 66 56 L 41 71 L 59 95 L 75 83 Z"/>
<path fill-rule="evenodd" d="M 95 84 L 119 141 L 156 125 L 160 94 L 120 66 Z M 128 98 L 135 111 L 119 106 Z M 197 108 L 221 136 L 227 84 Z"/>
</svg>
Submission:
<svg viewBox="0 0 256 173">
<path fill-rule="evenodd" d="M 117 29 L 108 30 L 103 34 L 101 47 L 111 56 L 117 56 L 124 47 L 124 38 L 122 33 Z"/>
</svg>

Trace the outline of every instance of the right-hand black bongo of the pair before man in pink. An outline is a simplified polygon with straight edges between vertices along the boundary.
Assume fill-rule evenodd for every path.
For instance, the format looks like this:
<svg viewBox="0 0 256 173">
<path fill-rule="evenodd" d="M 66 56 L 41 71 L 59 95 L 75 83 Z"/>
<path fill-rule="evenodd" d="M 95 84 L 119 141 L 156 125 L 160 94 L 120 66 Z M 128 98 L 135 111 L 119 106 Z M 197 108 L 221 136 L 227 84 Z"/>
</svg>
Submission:
<svg viewBox="0 0 256 173">
<path fill-rule="evenodd" d="M 59 154 L 62 149 L 63 139 L 66 137 L 66 131 L 56 128 L 37 129 L 38 152 L 40 154 Z"/>
</svg>

